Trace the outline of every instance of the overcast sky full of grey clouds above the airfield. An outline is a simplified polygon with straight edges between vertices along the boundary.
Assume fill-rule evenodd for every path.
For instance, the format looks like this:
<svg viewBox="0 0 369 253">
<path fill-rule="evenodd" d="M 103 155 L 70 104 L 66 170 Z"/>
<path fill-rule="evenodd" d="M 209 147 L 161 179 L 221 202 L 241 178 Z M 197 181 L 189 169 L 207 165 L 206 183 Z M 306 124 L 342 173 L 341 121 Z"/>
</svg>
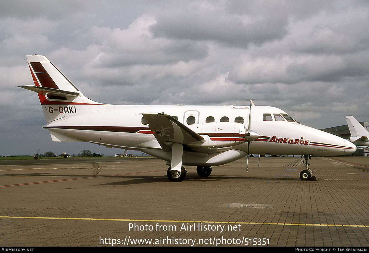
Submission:
<svg viewBox="0 0 369 253">
<path fill-rule="evenodd" d="M 365 0 L 0 2 L 0 155 L 83 149 L 52 142 L 25 55 L 48 57 L 109 104 L 256 105 L 327 128 L 369 121 Z"/>
</svg>

